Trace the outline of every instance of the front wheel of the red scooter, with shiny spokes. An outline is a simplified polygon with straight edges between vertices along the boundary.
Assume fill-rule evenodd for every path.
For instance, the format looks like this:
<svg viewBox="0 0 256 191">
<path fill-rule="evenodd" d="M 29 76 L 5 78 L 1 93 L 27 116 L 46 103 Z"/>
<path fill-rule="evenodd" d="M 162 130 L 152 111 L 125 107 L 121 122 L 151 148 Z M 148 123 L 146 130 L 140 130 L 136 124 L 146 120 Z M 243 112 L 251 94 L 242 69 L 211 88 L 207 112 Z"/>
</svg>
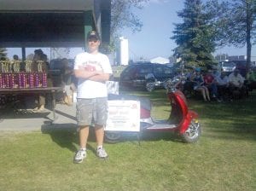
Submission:
<svg viewBox="0 0 256 191">
<path fill-rule="evenodd" d="M 201 136 L 201 124 L 192 120 L 189 124 L 188 130 L 186 130 L 181 136 L 183 138 L 183 142 L 197 142 Z"/>
</svg>

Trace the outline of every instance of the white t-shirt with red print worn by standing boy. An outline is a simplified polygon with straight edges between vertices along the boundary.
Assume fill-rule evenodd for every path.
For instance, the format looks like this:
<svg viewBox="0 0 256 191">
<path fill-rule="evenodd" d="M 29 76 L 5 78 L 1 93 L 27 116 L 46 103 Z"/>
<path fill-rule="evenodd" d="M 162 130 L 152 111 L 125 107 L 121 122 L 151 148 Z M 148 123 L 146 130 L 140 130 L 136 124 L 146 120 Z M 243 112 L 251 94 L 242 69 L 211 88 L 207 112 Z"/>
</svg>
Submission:
<svg viewBox="0 0 256 191">
<path fill-rule="evenodd" d="M 107 55 L 97 53 L 92 55 L 84 52 L 76 56 L 74 61 L 74 70 L 83 67 L 84 70 L 112 73 L 112 68 Z M 96 98 L 107 97 L 107 85 L 102 82 L 92 81 L 90 79 L 79 78 L 77 98 Z"/>
</svg>

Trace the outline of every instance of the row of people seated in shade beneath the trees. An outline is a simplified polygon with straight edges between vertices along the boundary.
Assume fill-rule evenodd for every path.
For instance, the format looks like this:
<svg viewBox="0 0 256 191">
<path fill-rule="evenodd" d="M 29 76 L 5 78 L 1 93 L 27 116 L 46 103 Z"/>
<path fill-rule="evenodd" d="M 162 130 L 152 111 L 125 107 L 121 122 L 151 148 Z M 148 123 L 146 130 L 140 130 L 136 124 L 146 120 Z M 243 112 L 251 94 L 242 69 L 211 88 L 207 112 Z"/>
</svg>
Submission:
<svg viewBox="0 0 256 191">
<path fill-rule="evenodd" d="M 184 90 L 200 92 L 204 101 L 232 101 L 247 96 L 248 91 L 255 89 L 255 77 L 255 69 L 250 69 L 244 78 L 237 68 L 228 73 L 219 72 L 217 67 L 209 68 L 207 72 L 196 67 L 184 84 Z"/>
</svg>

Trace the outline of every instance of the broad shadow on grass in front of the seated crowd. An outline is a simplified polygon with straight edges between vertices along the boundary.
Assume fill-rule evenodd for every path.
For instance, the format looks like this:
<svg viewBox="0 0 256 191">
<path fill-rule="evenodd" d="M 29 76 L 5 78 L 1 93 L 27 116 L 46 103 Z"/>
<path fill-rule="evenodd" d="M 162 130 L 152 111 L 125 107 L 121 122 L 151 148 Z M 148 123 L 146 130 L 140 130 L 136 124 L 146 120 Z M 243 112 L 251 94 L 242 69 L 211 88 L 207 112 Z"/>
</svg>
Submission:
<svg viewBox="0 0 256 191">
<path fill-rule="evenodd" d="M 256 139 L 256 91 L 248 98 L 224 103 L 189 102 L 206 126 L 205 136 L 227 140 Z"/>
</svg>

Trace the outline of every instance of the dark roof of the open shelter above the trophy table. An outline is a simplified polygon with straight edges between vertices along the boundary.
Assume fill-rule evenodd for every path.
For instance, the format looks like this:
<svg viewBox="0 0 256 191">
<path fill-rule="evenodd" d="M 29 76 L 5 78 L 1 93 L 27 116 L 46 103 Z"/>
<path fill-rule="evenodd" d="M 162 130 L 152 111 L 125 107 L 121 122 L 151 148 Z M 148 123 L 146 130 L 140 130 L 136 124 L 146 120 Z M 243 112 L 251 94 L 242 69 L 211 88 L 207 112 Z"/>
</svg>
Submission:
<svg viewBox="0 0 256 191">
<path fill-rule="evenodd" d="M 84 47 L 86 34 L 92 29 L 102 37 L 102 43 L 109 43 L 110 0 L 0 3 L 0 47 Z"/>
</svg>

